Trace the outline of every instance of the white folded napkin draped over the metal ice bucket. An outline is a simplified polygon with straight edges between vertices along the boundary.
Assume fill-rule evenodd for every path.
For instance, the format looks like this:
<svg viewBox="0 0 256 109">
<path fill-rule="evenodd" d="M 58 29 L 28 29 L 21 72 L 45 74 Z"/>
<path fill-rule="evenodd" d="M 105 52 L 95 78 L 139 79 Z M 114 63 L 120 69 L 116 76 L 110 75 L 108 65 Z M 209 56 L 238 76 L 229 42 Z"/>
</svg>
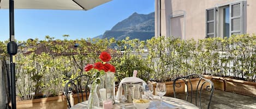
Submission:
<svg viewBox="0 0 256 109">
<path fill-rule="evenodd" d="M 124 78 L 122 79 L 122 81 L 120 82 L 118 89 L 117 89 L 117 94 L 116 94 L 116 100 L 120 101 L 121 97 L 122 97 L 122 93 L 123 93 L 123 83 L 126 82 L 131 82 L 131 83 L 137 83 L 137 82 L 142 82 L 143 85 L 146 85 L 146 82 L 140 78 L 136 78 L 136 77 L 128 77 L 128 78 Z"/>
</svg>

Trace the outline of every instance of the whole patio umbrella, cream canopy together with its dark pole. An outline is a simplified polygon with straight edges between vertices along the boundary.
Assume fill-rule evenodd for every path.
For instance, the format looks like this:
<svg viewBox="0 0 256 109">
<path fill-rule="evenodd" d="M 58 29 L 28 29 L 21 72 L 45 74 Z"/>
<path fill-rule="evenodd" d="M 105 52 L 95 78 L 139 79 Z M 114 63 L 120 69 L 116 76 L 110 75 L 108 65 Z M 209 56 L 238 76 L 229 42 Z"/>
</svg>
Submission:
<svg viewBox="0 0 256 109">
<path fill-rule="evenodd" d="M 10 42 L 7 49 L 8 54 L 10 54 L 11 108 L 16 109 L 13 55 L 17 53 L 17 43 L 14 42 L 14 9 L 89 10 L 109 1 L 111 0 L 0 0 L 0 9 L 9 9 Z"/>
</svg>

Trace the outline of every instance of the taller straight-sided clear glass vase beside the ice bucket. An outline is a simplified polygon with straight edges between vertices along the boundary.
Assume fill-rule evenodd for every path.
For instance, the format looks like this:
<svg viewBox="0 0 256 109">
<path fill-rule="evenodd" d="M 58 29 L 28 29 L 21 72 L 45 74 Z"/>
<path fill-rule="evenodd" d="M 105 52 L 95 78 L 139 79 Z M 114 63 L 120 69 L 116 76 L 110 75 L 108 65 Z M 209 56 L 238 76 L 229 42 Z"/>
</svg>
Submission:
<svg viewBox="0 0 256 109">
<path fill-rule="evenodd" d="M 106 72 L 104 75 L 100 76 L 98 95 L 100 105 L 102 105 L 104 100 L 111 100 L 113 104 L 115 103 L 115 79 L 113 72 Z"/>
</svg>

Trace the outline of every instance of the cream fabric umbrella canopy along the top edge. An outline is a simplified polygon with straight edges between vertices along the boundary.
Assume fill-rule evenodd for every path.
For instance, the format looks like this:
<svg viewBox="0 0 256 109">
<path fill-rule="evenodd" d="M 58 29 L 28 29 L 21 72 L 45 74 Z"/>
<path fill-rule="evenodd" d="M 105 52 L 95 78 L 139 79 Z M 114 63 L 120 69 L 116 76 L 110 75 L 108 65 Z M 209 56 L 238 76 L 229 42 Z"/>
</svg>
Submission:
<svg viewBox="0 0 256 109">
<path fill-rule="evenodd" d="M 89 10 L 111 0 L 16 0 L 14 9 Z M 0 0 L 0 9 L 9 9 L 9 0 Z"/>
</svg>

